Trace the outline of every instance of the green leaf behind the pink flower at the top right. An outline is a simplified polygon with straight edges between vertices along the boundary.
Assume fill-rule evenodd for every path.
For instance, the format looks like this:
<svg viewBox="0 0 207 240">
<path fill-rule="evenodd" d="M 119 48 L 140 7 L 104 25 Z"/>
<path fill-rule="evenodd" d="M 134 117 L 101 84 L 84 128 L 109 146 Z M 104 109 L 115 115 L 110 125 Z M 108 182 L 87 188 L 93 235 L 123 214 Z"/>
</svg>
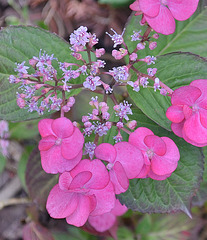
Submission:
<svg viewBox="0 0 207 240">
<path fill-rule="evenodd" d="M 139 58 L 147 55 L 158 56 L 176 51 L 192 52 L 207 57 L 207 9 L 204 9 L 205 5 L 207 5 L 207 1 L 201 0 L 197 11 L 191 18 L 186 21 L 176 21 L 176 30 L 173 34 L 160 34 L 158 40 L 152 38 L 152 41 L 157 41 L 157 48 L 151 51 L 147 44 L 144 50 L 139 51 Z M 146 30 L 146 26 L 140 26 L 140 20 L 141 16 L 133 16 L 127 24 L 124 38 L 130 51 L 134 50 L 137 44 L 137 42 L 131 42 L 130 36 L 133 34 L 133 31 L 142 30 L 142 34 L 144 34 Z"/>
</svg>

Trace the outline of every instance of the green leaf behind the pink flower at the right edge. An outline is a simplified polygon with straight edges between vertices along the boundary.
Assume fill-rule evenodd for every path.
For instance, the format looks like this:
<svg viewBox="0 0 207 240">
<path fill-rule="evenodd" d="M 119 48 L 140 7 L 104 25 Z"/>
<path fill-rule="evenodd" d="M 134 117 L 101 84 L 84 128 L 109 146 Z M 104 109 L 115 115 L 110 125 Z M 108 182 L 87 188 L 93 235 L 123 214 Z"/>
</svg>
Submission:
<svg viewBox="0 0 207 240">
<path fill-rule="evenodd" d="M 171 53 L 160 56 L 152 67 L 158 69 L 156 76 L 160 81 L 173 90 L 188 85 L 196 79 L 207 79 L 207 61 L 190 53 Z M 146 66 L 139 70 L 147 73 Z M 135 74 L 132 75 L 131 80 L 137 80 Z M 132 87 L 128 86 L 128 92 L 136 106 L 144 114 L 163 128 L 171 129 L 171 123 L 165 115 L 170 106 L 169 97 L 161 95 L 159 91 L 154 92 L 152 88 L 143 89 L 141 87 L 139 92 L 135 92 Z"/>
</svg>

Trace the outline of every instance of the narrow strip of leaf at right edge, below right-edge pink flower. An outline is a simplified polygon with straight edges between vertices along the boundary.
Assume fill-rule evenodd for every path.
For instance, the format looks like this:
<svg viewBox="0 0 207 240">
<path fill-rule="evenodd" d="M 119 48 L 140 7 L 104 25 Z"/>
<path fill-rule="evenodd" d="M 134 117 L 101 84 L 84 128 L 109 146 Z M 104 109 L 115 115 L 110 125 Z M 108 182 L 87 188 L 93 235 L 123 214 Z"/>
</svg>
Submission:
<svg viewBox="0 0 207 240">
<path fill-rule="evenodd" d="M 203 179 L 200 185 L 196 196 L 193 197 L 192 204 L 193 206 L 203 206 L 203 204 L 207 201 L 207 147 L 203 147 L 203 154 L 205 157 L 205 165 L 204 165 L 204 173 Z"/>
</svg>

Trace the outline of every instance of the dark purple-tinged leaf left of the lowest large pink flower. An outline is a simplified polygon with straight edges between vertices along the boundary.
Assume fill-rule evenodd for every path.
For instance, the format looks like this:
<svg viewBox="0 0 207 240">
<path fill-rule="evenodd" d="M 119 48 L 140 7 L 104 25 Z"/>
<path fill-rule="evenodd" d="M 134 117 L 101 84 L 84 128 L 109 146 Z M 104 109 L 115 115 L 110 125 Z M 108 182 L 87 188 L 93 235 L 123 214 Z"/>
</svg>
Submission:
<svg viewBox="0 0 207 240">
<path fill-rule="evenodd" d="M 30 198 L 45 208 L 50 190 L 57 183 L 58 175 L 47 174 L 41 166 L 40 153 L 35 148 L 26 167 L 26 185 Z"/>
</svg>

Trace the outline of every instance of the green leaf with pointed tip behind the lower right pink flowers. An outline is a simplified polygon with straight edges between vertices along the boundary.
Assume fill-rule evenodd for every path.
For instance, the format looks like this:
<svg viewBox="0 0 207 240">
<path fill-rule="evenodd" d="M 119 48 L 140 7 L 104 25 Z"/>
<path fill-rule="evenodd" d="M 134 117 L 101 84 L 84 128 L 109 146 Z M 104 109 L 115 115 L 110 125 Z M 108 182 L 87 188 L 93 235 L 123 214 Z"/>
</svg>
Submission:
<svg viewBox="0 0 207 240">
<path fill-rule="evenodd" d="M 201 149 L 176 137 L 141 113 L 133 111 L 138 126 L 150 128 L 155 135 L 171 138 L 180 151 L 177 169 L 164 181 L 150 178 L 130 180 L 129 189 L 118 195 L 122 204 L 142 213 L 170 213 L 184 211 L 190 216 L 192 197 L 199 188 L 203 175 L 203 155 Z"/>
</svg>

